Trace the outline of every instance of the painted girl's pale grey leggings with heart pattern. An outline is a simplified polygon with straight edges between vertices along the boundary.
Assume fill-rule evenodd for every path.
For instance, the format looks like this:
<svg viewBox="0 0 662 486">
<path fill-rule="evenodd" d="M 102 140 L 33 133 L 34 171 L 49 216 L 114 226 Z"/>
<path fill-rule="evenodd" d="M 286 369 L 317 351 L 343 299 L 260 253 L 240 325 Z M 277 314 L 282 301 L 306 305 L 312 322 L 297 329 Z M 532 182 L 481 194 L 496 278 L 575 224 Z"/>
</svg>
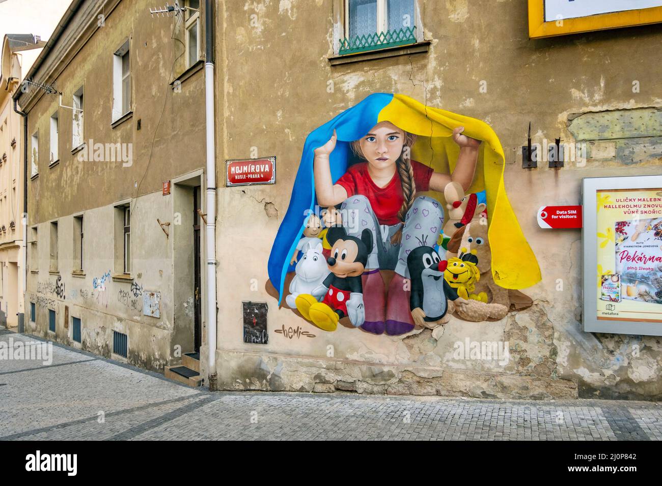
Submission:
<svg viewBox="0 0 662 486">
<path fill-rule="evenodd" d="M 407 255 L 420 246 L 434 247 L 444 225 L 444 210 L 436 199 L 418 196 L 409 208 L 402 229 L 402 241 L 393 245 L 391 237 L 400 229 L 400 224 L 379 225 L 377 217 L 365 196 L 351 196 L 340 208 L 342 224 L 350 236 L 361 237 L 364 229 L 373 233 L 373 251 L 365 268 L 373 270 L 395 270 L 409 278 Z"/>
</svg>

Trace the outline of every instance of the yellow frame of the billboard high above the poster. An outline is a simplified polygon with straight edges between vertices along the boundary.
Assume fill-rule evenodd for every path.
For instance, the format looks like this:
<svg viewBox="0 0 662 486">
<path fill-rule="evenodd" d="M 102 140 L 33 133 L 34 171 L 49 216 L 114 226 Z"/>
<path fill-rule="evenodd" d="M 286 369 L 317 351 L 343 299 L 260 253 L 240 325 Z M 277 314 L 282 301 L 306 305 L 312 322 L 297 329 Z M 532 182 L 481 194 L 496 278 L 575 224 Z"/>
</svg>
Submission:
<svg viewBox="0 0 662 486">
<path fill-rule="evenodd" d="M 558 20 L 545 22 L 545 0 L 528 0 L 528 4 L 529 38 L 531 39 L 662 22 L 662 7 L 650 7 L 648 9 L 601 13 L 577 19 L 563 19 L 561 24 L 558 25 Z"/>
</svg>

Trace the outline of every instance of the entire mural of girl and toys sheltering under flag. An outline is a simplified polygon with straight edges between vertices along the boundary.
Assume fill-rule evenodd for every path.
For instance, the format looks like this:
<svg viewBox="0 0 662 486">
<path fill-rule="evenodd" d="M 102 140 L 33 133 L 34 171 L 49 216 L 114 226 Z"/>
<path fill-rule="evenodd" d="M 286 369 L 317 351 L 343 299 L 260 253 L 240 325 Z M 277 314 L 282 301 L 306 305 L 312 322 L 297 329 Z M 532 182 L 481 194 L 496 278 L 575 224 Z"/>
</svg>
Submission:
<svg viewBox="0 0 662 486">
<path fill-rule="evenodd" d="M 370 95 L 308 136 L 267 289 L 329 332 L 403 335 L 528 307 L 516 289 L 540 268 L 503 166 L 481 120 Z"/>
</svg>

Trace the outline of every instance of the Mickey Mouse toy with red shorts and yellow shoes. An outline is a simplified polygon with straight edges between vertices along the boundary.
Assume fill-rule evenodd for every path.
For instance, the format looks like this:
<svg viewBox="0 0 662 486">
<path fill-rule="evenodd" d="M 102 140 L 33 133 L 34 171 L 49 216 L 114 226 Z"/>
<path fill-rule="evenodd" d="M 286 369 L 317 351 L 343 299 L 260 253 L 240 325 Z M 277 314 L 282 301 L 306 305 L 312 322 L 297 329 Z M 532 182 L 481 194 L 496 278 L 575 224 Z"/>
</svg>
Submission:
<svg viewBox="0 0 662 486">
<path fill-rule="evenodd" d="M 349 236 L 344 227 L 333 226 L 326 239 L 332 245 L 326 260 L 331 273 L 311 294 L 299 294 L 295 304 L 303 317 L 324 331 L 335 331 L 347 315 L 359 327 L 365 321 L 361 274 L 373 249 L 372 233 L 364 229 L 359 239 Z M 318 302 L 322 296 L 324 300 Z"/>
</svg>

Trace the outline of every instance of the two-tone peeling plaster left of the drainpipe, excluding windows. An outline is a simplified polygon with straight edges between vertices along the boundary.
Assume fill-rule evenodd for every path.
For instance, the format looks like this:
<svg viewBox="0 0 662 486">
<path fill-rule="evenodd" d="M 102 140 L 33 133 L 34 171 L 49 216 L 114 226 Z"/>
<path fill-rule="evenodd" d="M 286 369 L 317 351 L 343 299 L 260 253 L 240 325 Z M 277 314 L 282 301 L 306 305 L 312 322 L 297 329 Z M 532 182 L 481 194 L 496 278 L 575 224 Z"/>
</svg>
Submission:
<svg viewBox="0 0 662 486">
<path fill-rule="evenodd" d="M 193 202 L 179 200 L 175 204 L 175 183 L 169 196 L 162 195 L 162 184 L 192 173 L 200 180 L 205 161 L 203 71 L 193 73 L 179 89 L 173 89 L 171 83 L 185 69 L 181 22 L 152 18 L 150 7 L 154 5 L 144 0 L 120 1 L 111 9 L 115 3 L 85 3 L 83 10 L 99 8 L 105 13 L 103 25 L 97 24 L 100 19 L 96 15 L 89 25 L 78 18 L 73 20 L 54 53 L 62 54 L 64 40 L 78 38 L 73 42 L 75 56 L 71 61 L 62 61 L 68 59 L 62 57 L 55 74 L 42 69 L 34 75 L 40 82 L 56 83 L 66 106 L 71 106 L 73 93 L 83 86 L 84 140 L 128 144 L 132 160 L 79 161 L 78 153 L 71 152 L 72 111 L 58 109 L 58 97 L 51 95 L 43 95 L 28 106 L 28 134 L 39 134 L 39 175 L 28 181 L 28 229 L 38 227 L 39 261 L 36 268 L 30 264 L 28 251 L 26 301 L 35 302 L 37 312 L 36 324 L 26 324 L 26 329 L 79 346 L 71 336 L 71 317 L 79 317 L 83 349 L 110 356 L 115 329 L 128 335 L 128 362 L 162 371 L 164 365 L 179 361 L 175 346 L 180 346 L 181 352 L 193 351 L 192 317 L 181 310 L 193 290 L 183 289 L 175 280 L 180 276 L 173 270 L 175 261 L 181 264 L 179 259 L 185 266 L 193 265 L 193 230 L 186 219 L 193 211 Z M 126 38 L 130 38 L 133 114 L 113 128 L 113 53 Z M 60 162 L 49 167 L 49 118 L 56 110 L 60 117 Z M 116 259 L 117 248 L 122 252 L 122 235 L 121 229 L 117 235 L 113 206 L 120 201 L 130 201 L 132 209 L 130 280 L 112 278 L 122 272 Z M 184 211 L 184 221 L 178 224 L 177 213 Z M 73 216 L 79 215 L 83 215 L 85 226 L 83 276 L 72 273 Z M 157 219 L 170 223 L 166 226 L 169 237 Z M 59 228 L 59 275 L 48 271 L 48 235 L 50 222 L 55 220 Z M 185 251 L 181 243 L 174 246 L 175 239 L 186 238 L 189 245 Z M 54 292 L 58 276 L 64 285 L 63 296 Z M 95 289 L 95 279 L 99 282 L 103 276 L 103 288 Z M 143 315 L 143 297 L 148 290 L 160 292 L 160 318 Z M 47 331 L 49 307 L 58 315 L 55 334 Z"/>
</svg>

